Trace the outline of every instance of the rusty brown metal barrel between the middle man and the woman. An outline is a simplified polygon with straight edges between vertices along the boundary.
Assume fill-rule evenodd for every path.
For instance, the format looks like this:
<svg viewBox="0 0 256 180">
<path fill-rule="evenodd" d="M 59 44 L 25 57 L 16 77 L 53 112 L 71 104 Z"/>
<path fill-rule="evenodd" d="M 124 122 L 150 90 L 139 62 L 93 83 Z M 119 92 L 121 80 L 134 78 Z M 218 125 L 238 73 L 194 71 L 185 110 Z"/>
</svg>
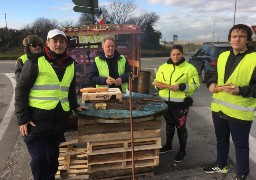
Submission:
<svg viewBox="0 0 256 180">
<path fill-rule="evenodd" d="M 139 71 L 138 73 L 138 93 L 149 94 L 150 71 Z"/>
</svg>

